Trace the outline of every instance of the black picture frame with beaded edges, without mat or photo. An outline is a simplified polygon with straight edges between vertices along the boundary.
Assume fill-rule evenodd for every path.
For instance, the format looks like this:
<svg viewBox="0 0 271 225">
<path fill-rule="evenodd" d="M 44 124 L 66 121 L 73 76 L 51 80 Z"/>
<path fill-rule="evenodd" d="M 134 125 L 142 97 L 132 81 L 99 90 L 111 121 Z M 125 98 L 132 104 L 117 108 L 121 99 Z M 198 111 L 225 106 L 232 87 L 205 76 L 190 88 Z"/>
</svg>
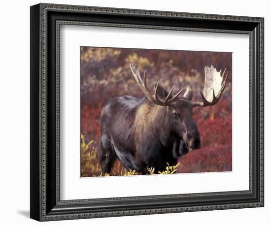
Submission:
<svg viewBox="0 0 271 225">
<path fill-rule="evenodd" d="M 249 191 L 60 200 L 61 24 L 249 34 Z M 30 217 L 38 221 L 264 206 L 264 18 L 46 3 L 31 6 L 30 192 Z"/>
</svg>

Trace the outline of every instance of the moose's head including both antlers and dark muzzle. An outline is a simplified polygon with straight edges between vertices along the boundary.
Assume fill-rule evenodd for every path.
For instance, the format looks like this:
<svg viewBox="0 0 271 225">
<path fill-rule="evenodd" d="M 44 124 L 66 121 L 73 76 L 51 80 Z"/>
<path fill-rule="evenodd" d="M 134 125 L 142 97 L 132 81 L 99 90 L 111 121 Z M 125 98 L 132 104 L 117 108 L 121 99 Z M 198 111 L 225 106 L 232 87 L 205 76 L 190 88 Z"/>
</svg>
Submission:
<svg viewBox="0 0 271 225">
<path fill-rule="evenodd" d="M 154 95 L 152 95 L 147 87 L 146 71 L 142 80 L 135 65 L 131 64 L 130 66 L 135 81 L 148 100 L 153 104 L 167 107 L 170 131 L 177 135 L 183 144 L 179 154 L 182 155 L 192 149 L 200 149 L 201 138 L 198 127 L 193 120 L 193 108 L 211 106 L 218 102 L 226 86 L 228 77 L 228 72 L 225 73 L 226 69 L 221 74 L 221 70 L 217 71 L 212 65 L 211 67 L 205 66 L 204 88 L 203 92 L 200 91 L 202 102 L 192 102 L 193 91 L 189 86 L 185 91 L 181 89 L 177 94 L 172 95 L 174 86 L 168 92 L 158 81 L 155 84 Z M 181 95 L 183 92 L 184 94 Z"/>
</svg>

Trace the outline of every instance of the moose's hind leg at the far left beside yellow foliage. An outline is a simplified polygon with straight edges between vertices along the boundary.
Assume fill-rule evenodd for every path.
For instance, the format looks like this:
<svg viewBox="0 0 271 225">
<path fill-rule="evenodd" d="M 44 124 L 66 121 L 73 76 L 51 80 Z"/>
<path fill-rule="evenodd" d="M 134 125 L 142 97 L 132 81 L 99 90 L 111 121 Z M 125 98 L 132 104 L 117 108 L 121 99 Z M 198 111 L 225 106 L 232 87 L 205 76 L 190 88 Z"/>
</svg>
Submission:
<svg viewBox="0 0 271 225">
<path fill-rule="evenodd" d="M 102 174 L 110 173 L 111 169 L 116 161 L 116 155 L 111 147 L 110 139 L 107 135 L 101 137 L 101 152 L 100 163 L 102 168 Z"/>
</svg>

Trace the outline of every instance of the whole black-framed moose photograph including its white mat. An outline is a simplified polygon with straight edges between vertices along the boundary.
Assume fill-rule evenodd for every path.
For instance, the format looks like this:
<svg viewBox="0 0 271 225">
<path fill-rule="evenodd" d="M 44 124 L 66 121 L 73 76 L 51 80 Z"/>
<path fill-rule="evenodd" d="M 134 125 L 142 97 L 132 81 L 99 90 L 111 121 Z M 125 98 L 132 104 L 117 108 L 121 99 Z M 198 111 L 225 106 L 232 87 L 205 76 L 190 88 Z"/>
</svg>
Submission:
<svg viewBox="0 0 271 225">
<path fill-rule="evenodd" d="M 264 18 L 31 6 L 31 218 L 264 206 Z"/>
</svg>

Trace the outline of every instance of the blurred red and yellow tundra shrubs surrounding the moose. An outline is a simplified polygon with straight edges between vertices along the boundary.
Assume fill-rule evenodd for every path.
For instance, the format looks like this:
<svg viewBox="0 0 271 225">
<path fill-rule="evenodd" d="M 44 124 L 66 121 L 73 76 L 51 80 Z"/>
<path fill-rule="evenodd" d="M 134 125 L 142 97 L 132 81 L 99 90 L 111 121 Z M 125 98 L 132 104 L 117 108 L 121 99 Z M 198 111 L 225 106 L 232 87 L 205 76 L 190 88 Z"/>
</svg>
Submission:
<svg viewBox="0 0 271 225">
<path fill-rule="evenodd" d="M 114 97 L 144 96 L 132 75 L 134 63 L 146 70 L 149 88 L 155 82 L 175 92 L 189 85 L 192 101 L 201 101 L 204 66 L 228 70 L 223 95 L 214 106 L 195 107 L 194 120 L 201 133 L 202 148 L 179 159 L 177 173 L 232 171 L 232 53 L 124 48 L 81 47 L 81 177 L 100 176 L 100 115 L 105 102 Z M 174 94 L 174 92 L 173 92 Z M 111 175 L 127 174 L 116 161 Z"/>
</svg>

